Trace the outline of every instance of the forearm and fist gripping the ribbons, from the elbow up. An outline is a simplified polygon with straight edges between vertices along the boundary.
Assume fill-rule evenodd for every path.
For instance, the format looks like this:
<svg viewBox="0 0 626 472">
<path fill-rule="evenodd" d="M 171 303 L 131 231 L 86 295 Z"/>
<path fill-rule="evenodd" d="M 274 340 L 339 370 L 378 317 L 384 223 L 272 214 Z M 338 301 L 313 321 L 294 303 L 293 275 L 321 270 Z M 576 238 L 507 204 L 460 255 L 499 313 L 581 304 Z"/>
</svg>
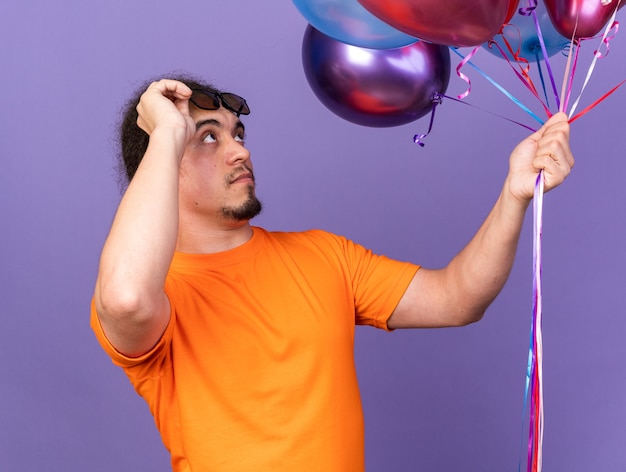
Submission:
<svg viewBox="0 0 626 472">
<path fill-rule="evenodd" d="M 563 113 L 516 146 L 509 175 L 493 210 L 467 247 L 448 266 L 455 301 L 470 318 L 480 318 L 509 276 L 524 215 L 543 171 L 545 191 L 561 184 L 574 165 L 569 124 Z"/>
</svg>

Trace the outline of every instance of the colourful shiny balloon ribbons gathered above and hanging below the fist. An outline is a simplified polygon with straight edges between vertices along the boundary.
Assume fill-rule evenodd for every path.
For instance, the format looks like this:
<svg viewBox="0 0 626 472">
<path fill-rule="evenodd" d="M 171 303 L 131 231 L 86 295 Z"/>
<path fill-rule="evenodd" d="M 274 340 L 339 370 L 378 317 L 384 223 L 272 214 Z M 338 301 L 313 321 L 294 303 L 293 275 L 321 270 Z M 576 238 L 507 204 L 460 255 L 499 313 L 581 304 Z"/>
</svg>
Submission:
<svg viewBox="0 0 626 472">
<path fill-rule="evenodd" d="M 619 23 L 615 21 L 615 17 L 617 11 L 620 7 L 620 3 L 623 0 L 617 0 L 615 9 L 613 10 L 612 16 L 610 20 L 607 22 L 606 27 L 600 38 L 600 44 L 596 50 L 593 51 L 593 59 L 589 65 L 587 70 L 585 79 L 583 81 L 582 87 L 579 91 L 578 96 L 574 100 L 573 105 L 568 111 L 568 106 L 570 102 L 570 98 L 572 97 L 572 89 L 574 85 L 574 77 L 576 75 L 577 68 L 579 67 L 580 60 L 580 52 L 582 49 L 582 43 L 587 40 L 596 39 L 596 37 L 589 38 L 580 38 L 576 37 L 576 29 L 578 27 L 578 19 L 576 21 L 576 26 L 574 27 L 574 31 L 572 33 L 571 40 L 569 42 L 569 49 L 567 52 L 567 63 L 565 66 L 565 71 L 563 74 L 563 83 L 561 86 L 560 94 L 557 90 L 553 69 L 550 64 L 546 44 L 544 41 L 544 36 L 541 31 L 541 26 L 539 23 L 539 19 L 537 16 L 536 8 L 537 8 L 537 0 L 528 0 L 528 6 L 522 7 L 519 9 L 518 13 L 521 15 L 532 17 L 533 23 L 535 25 L 537 38 L 539 40 L 539 46 L 532 51 L 534 53 L 535 63 L 537 65 L 537 71 L 539 74 L 539 79 L 541 81 L 543 98 L 540 96 L 537 87 L 533 83 L 530 76 L 530 62 L 527 58 L 521 57 L 520 49 L 521 47 L 513 47 L 510 42 L 507 40 L 504 34 L 505 28 L 512 27 L 512 25 L 503 25 L 500 29 L 498 35 L 500 35 L 502 39 L 502 44 L 504 47 L 500 46 L 498 42 L 495 40 L 491 40 L 488 43 L 488 46 L 496 47 L 502 58 L 507 62 L 507 64 L 511 67 L 515 75 L 520 79 L 522 84 L 531 92 L 531 94 L 539 101 L 545 115 L 550 118 L 552 116 L 552 111 L 550 109 L 549 100 L 548 100 L 548 88 L 551 87 L 552 92 L 554 93 L 554 103 L 556 105 L 555 110 L 559 112 L 564 112 L 568 115 L 568 121 L 573 123 L 578 120 L 580 117 L 585 115 L 587 112 L 595 108 L 599 103 L 604 101 L 607 97 L 613 94 L 619 87 L 621 87 L 624 83 L 626 83 L 626 79 L 619 82 L 615 87 L 606 92 L 600 98 L 595 100 L 591 105 L 588 105 L 582 111 L 576 113 L 576 109 L 580 104 L 581 97 L 583 96 L 583 92 L 585 91 L 587 85 L 590 82 L 591 76 L 596 69 L 598 59 L 606 57 L 609 52 L 609 43 L 610 41 L 617 35 L 619 29 Z M 611 34 L 612 33 L 612 34 Z M 521 34 L 520 34 L 521 36 Z M 522 38 L 520 38 L 520 43 Z M 449 100 L 453 100 L 456 102 L 463 103 L 465 105 L 474 106 L 467 103 L 464 99 L 468 97 L 471 92 L 472 84 L 470 77 L 462 72 L 462 69 L 465 66 L 472 67 L 476 72 L 482 75 L 488 82 L 491 83 L 497 90 L 502 92 L 508 99 L 510 99 L 515 105 L 521 108 L 525 113 L 527 113 L 531 118 L 536 120 L 539 124 L 543 125 L 545 120 L 537 116 L 533 111 L 531 111 L 526 105 L 524 105 L 518 98 L 513 96 L 508 90 L 506 90 L 502 85 L 493 80 L 489 75 L 487 75 L 484 71 L 482 71 L 475 63 L 472 62 L 472 59 L 475 59 L 478 52 L 478 47 L 472 49 L 472 51 L 464 56 L 458 50 L 458 48 L 450 47 L 450 51 L 455 53 L 457 56 L 461 58 L 461 61 L 456 69 L 457 75 L 467 83 L 467 89 L 465 92 L 458 95 L 457 98 L 448 97 L 446 95 L 440 94 L 438 95 L 438 102 L 434 103 L 433 111 L 431 115 L 431 122 L 428 129 L 428 133 L 432 129 L 433 119 L 435 114 L 435 108 L 438 104 L 441 104 L 441 99 L 446 98 Z M 600 52 L 604 49 L 604 53 Z M 565 47 L 563 48 L 565 51 Z M 540 57 L 540 54 L 543 57 Z M 512 59 L 511 59 L 512 58 Z M 542 71 L 540 59 L 543 59 L 545 62 L 545 75 Z M 511 63 L 511 60 L 516 62 L 516 65 Z M 549 87 L 547 87 L 547 83 L 549 83 Z M 545 100 L 544 100 L 545 99 Z M 475 107 L 479 108 L 479 107 Z M 479 108 L 481 109 L 481 108 Z M 482 110 L 482 109 L 481 109 Z M 486 111 L 486 110 L 483 110 Z M 491 112 L 488 112 L 491 113 Z M 498 115 L 496 113 L 491 113 L 499 118 L 505 119 L 507 121 L 516 123 L 520 126 L 523 126 L 529 130 L 534 131 L 533 128 L 526 126 L 522 123 L 519 123 L 515 120 L 511 120 L 504 116 Z M 423 146 L 422 139 L 428 135 L 428 133 L 423 135 L 415 135 L 414 141 Z M 542 280 L 541 280 L 541 272 L 542 272 L 542 233 L 543 233 L 543 194 L 544 194 L 544 172 L 541 171 L 537 175 L 537 179 L 535 182 L 534 189 L 534 198 L 533 198 L 533 313 L 532 313 L 532 322 L 530 328 L 530 341 L 528 347 L 528 360 L 526 366 L 526 382 L 524 388 L 524 407 L 522 411 L 522 430 L 524 430 L 525 420 L 528 422 L 528 441 L 527 441 L 527 453 L 523 453 L 524 449 L 524 436 L 522 434 L 520 440 L 520 457 L 518 464 L 518 472 L 522 471 L 522 462 L 525 459 L 526 461 L 526 472 L 541 472 L 543 466 L 543 438 L 544 438 L 544 402 L 543 402 L 543 334 L 542 334 L 542 324 L 543 324 L 543 294 L 542 294 Z M 526 456 L 526 457 L 524 457 Z"/>
</svg>

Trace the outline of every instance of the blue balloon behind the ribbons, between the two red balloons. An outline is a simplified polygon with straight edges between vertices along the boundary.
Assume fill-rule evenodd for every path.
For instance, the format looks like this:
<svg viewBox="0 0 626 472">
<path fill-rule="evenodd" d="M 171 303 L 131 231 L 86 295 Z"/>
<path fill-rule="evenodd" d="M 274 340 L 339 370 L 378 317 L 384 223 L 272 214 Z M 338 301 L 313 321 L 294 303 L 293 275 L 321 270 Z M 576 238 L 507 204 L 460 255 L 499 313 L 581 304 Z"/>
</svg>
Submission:
<svg viewBox="0 0 626 472">
<path fill-rule="evenodd" d="M 519 8 L 526 7 L 528 7 L 528 0 L 520 0 Z M 548 57 L 566 49 L 570 40 L 561 36 L 554 28 L 550 20 L 550 15 L 543 3 L 537 2 L 535 14 L 537 15 L 537 21 L 539 22 L 541 36 L 543 37 Z M 527 61 L 535 59 L 536 54 L 539 55 L 540 59 L 543 58 L 541 43 L 539 42 L 539 35 L 537 34 L 537 26 L 532 15 L 526 16 L 519 12 L 516 13 L 509 21 L 509 24 L 504 25 L 502 32 L 493 38 L 493 41 L 498 43 L 502 51 L 506 53 L 507 58 L 512 61 L 514 58 L 509 52 L 505 40 L 509 43 L 514 52 L 518 52 L 519 50 L 519 56 Z M 495 45 L 485 43 L 483 47 L 496 56 L 502 57 L 502 51 Z"/>
</svg>

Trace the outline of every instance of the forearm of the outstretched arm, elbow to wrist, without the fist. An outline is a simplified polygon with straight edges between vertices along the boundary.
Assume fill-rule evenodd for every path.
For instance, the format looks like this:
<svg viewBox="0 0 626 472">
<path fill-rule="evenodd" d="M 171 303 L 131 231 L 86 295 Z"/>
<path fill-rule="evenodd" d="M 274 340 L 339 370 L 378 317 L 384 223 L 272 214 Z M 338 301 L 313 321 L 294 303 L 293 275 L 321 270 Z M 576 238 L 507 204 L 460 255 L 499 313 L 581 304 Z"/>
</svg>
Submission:
<svg viewBox="0 0 626 472">
<path fill-rule="evenodd" d="M 528 202 L 513 198 L 507 190 L 475 236 L 444 270 L 451 309 L 460 324 L 480 319 L 500 293 L 513 266 Z"/>
</svg>

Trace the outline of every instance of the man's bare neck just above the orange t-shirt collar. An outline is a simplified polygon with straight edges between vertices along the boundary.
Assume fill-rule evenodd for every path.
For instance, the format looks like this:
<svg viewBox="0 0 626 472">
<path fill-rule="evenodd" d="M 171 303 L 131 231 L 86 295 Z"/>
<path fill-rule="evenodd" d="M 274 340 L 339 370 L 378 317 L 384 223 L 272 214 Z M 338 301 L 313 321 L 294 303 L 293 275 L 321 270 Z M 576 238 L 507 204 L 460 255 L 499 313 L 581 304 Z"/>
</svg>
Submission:
<svg viewBox="0 0 626 472">
<path fill-rule="evenodd" d="M 188 254 L 214 254 L 241 246 L 251 237 L 249 221 L 208 228 L 180 227 L 176 250 Z"/>
</svg>

